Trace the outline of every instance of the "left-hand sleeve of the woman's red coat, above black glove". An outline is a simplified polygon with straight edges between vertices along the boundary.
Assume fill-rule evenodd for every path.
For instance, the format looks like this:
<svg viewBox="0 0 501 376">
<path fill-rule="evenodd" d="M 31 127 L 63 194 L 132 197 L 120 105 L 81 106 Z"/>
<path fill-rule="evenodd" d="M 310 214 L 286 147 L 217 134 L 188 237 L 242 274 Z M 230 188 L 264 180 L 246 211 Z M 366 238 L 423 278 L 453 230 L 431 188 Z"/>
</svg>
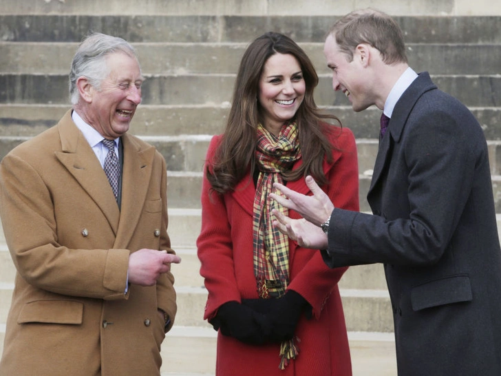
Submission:
<svg viewBox="0 0 501 376">
<path fill-rule="evenodd" d="M 210 165 L 220 137 L 211 140 L 206 163 Z M 222 195 L 211 192 L 211 183 L 206 178 L 202 182 L 202 229 L 197 239 L 200 275 L 209 297 L 204 311 L 204 320 L 211 319 L 225 302 L 240 302 L 233 264 L 233 244 L 228 213 Z"/>
</svg>

